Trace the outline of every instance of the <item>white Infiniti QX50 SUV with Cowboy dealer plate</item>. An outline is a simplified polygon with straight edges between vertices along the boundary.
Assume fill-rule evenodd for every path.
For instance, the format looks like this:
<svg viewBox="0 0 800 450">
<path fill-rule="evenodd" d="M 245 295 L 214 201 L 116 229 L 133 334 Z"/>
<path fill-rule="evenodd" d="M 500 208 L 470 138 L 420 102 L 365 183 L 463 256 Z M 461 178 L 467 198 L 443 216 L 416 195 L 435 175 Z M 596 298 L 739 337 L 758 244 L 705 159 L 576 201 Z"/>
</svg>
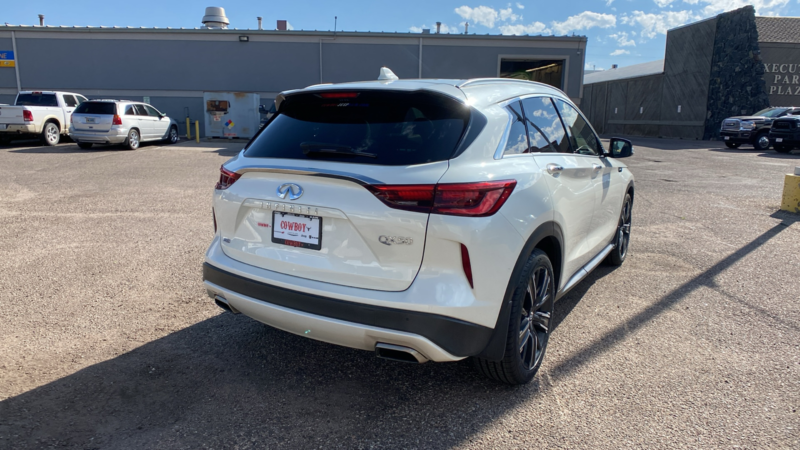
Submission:
<svg viewBox="0 0 800 450">
<path fill-rule="evenodd" d="M 273 327 L 530 380 L 553 303 L 621 264 L 634 177 L 561 91 L 506 78 L 284 92 L 221 167 L 203 279 Z"/>
</svg>

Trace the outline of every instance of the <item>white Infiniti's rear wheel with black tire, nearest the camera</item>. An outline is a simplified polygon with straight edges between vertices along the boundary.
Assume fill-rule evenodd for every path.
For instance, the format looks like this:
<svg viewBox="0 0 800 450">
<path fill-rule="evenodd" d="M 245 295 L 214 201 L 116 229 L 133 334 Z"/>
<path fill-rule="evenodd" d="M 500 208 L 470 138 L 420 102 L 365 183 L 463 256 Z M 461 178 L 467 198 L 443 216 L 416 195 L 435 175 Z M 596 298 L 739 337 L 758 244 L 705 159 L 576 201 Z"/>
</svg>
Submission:
<svg viewBox="0 0 800 450">
<path fill-rule="evenodd" d="M 500 361 L 473 358 L 478 370 L 506 384 L 526 384 L 532 380 L 547 349 L 554 300 L 553 266 L 544 251 L 534 249 L 511 299 L 506 352 Z"/>
</svg>

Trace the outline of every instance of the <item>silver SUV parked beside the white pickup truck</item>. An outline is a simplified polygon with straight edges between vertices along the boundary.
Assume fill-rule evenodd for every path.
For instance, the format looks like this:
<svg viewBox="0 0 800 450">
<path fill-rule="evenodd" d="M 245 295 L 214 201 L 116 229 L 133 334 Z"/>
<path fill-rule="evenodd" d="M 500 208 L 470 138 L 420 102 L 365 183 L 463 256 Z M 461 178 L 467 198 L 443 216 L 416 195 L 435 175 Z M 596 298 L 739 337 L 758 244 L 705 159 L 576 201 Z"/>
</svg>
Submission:
<svg viewBox="0 0 800 450">
<path fill-rule="evenodd" d="M 70 138 L 81 148 L 122 143 L 136 150 L 147 141 L 177 143 L 178 123 L 147 103 L 89 100 L 73 111 Z"/>
</svg>

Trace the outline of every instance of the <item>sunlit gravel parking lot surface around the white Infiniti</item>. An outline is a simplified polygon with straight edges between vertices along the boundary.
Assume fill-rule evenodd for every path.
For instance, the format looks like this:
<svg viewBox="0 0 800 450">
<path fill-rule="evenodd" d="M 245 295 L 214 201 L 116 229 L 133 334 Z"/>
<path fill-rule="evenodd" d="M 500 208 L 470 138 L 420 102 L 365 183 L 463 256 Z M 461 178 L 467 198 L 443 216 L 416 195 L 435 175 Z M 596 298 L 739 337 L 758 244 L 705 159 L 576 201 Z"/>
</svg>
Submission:
<svg viewBox="0 0 800 450">
<path fill-rule="evenodd" d="M 223 314 L 201 263 L 242 144 L 0 149 L 0 448 L 798 448 L 800 152 L 634 139 L 628 260 L 534 382 Z"/>
</svg>

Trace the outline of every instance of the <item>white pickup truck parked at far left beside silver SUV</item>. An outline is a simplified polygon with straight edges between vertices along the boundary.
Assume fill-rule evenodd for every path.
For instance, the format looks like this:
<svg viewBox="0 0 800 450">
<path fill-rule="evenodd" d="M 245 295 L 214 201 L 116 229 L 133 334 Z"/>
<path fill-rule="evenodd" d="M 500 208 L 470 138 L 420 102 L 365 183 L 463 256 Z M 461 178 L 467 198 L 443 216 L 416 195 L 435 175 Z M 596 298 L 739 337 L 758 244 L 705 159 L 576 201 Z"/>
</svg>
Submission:
<svg viewBox="0 0 800 450">
<path fill-rule="evenodd" d="M 86 97 L 58 90 L 23 90 L 14 105 L 0 105 L 0 145 L 38 137 L 55 145 L 70 130 L 70 115 Z"/>
</svg>

